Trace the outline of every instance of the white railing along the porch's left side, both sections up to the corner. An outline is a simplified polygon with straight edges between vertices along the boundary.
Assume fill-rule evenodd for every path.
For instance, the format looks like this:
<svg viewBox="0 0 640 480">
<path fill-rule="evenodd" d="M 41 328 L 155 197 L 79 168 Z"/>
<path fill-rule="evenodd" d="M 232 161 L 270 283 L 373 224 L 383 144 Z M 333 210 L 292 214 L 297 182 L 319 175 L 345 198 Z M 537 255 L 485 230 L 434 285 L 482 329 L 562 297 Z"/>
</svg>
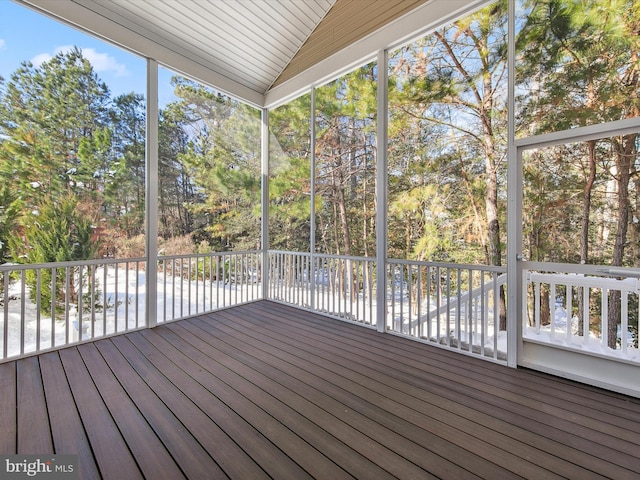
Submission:
<svg viewBox="0 0 640 480">
<path fill-rule="evenodd" d="M 0 361 L 145 328 L 147 292 L 157 323 L 257 300 L 260 259 L 258 251 L 159 257 L 154 286 L 144 258 L 0 265 Z"/>
</svg>

